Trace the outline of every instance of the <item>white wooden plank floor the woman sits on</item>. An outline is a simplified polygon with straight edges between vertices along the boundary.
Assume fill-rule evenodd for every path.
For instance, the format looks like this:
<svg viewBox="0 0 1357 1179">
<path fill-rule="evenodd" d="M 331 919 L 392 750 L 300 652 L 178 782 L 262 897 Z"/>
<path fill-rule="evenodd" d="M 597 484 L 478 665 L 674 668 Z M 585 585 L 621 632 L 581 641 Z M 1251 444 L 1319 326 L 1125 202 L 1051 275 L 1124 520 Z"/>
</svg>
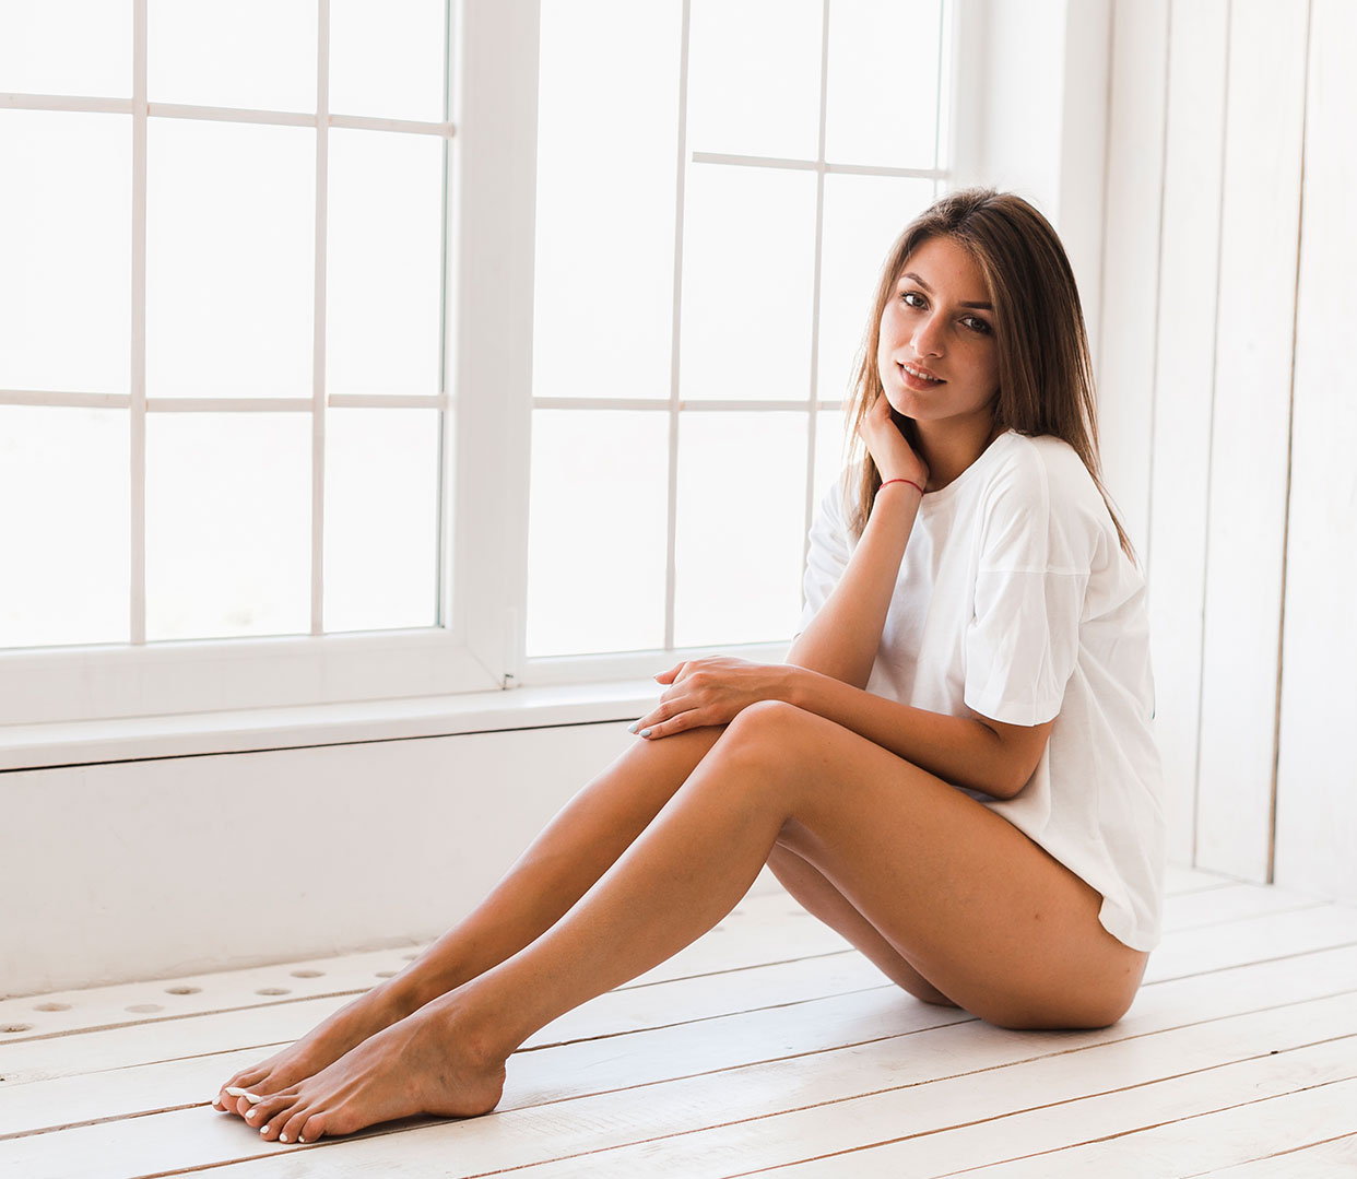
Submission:
<svg viewBox="0 0 1357 1179">
<path fill-rule="evenodd" d="M 208 1104 L 400 951 L 0 1003 L 0 1175 L 1357 1175 L 1357 909 L 1170 874 L 1117 1027 L 925 1007 L 780 894 L 546 1028 L 495 1114 L 312 1146 Z"/>
</svg>

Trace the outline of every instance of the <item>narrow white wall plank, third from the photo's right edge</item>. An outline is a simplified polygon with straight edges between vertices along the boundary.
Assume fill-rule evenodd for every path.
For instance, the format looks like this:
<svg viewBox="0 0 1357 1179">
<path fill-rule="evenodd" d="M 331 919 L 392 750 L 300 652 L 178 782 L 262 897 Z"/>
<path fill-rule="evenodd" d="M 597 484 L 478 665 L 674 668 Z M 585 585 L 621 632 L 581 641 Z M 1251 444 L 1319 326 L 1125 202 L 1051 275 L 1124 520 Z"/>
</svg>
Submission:
<svg viewBox="0 0 1357 1179">
<path fill-rule="evenodd" d="M 1170 859 L 1191 863 L 1197 811 L 1206 480 L 1229 0 L 1178 0 L 1168 33 L 1159 347 L 1149 497 L 1149 632 Z"/>
</svg>

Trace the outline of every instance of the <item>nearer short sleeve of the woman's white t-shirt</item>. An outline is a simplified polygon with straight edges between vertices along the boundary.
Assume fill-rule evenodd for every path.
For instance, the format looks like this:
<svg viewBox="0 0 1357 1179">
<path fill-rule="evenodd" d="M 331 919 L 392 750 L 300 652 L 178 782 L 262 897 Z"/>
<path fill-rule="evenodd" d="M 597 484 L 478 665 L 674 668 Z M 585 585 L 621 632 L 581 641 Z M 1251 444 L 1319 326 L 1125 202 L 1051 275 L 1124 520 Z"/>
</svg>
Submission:
<svg viewBox="0 0 1357 1179">
<path fill-rule="evenodd" d="M 991 488 L 981 521 L 974 611 L 966 628 L 965 700 L 1006 724 L 1060 712 L 1079 658 L 1090 556 L 1068 506 L 1053 502 L 1033 455 Z"/>
</svg>

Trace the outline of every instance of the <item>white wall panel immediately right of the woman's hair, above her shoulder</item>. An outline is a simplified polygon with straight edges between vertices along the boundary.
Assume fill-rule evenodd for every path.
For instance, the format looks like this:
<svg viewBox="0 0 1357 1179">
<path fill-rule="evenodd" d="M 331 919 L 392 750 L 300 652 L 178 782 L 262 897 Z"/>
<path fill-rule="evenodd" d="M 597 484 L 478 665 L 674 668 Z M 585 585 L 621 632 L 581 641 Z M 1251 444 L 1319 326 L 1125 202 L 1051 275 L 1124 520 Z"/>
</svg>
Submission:
<svg viewBox="0 0 1357 1179">
<path fill-rule="evenodd" d="M 1139 549 L 1149 516 L 1167 34 L 1168 0 L 1117 4 L 1098 417 L 1107 490 Z"/>
</svg>

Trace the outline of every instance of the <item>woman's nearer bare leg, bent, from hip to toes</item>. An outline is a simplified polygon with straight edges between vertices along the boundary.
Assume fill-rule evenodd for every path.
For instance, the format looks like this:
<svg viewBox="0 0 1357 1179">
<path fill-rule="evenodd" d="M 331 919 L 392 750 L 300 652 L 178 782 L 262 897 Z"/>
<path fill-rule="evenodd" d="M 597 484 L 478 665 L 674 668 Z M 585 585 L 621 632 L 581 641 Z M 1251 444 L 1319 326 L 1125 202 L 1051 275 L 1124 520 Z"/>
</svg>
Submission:
<svg viewBox="0 0 1357 1179">
<path fill-rule="evenodd" d="M 779 841 L 984 1019 L 1103 1026 L 1139 986 L 1147 955 L 1109 935 L 1098 894 L 1008 822 L 832 722 L 765 701 L 531 946 L 265 1099 L 252 1123 L 313 1141 L 493 1108 L 517 1045 L 710 929 Z"/>
</svg>

